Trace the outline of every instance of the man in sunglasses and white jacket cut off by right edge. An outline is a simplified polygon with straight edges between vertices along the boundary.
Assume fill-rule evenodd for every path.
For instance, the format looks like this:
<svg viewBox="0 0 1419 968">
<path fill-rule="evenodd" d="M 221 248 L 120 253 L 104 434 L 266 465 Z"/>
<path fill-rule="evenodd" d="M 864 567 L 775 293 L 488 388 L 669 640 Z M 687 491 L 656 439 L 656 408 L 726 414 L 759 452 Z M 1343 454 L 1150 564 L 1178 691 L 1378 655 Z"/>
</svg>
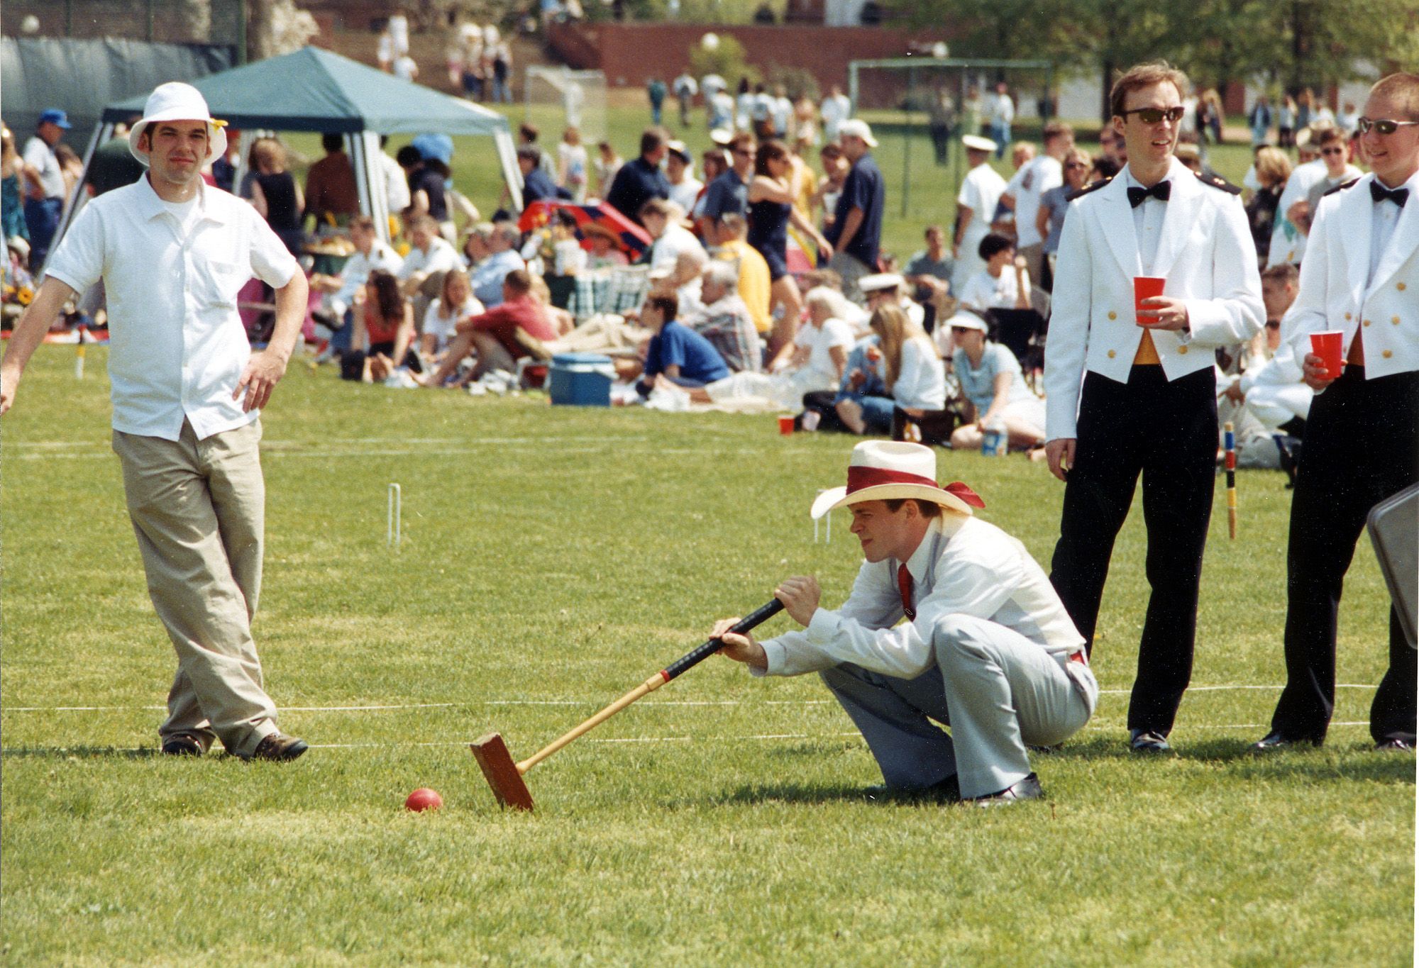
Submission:
<svg viewBox="0 0 1419 968">
<path fill-rule="evenodd" d="M 1320 745 L 1335 708 L 1335 619 L 1365 517 L 1419 481 L 1419 74 L 1369 89 L 1371 173 L 1315 213 L 1286 336 L 1315 390 L 1286 552 L 1286 690 L 1256 752 Z M 1327 370 L 1311 334 L 1341 331 Z M 1337 379 L 1338 376 L 1338 379 Z M 1369 708 L 1378 749 L 1415 748 L 1415 650 L 1389 612 L 1389 669 Z"/>
</svg>

